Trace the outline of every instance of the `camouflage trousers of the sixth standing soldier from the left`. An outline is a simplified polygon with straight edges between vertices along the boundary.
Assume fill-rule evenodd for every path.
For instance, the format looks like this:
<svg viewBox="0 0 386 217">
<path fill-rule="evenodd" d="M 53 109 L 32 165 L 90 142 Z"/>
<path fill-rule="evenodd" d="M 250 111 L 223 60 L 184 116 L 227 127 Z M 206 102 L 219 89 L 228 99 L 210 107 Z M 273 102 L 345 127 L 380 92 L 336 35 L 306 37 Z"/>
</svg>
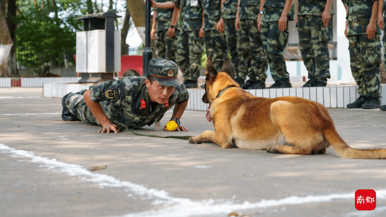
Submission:
<svg viewBox="0 0 386 217">
<path fill-rule="evenodd" d="M 288 42 L 288 29 L 280 31 L 279 21 L 261 21 L 261 32 L 263 49 L 270 64 L 273 80 L 290 82 L 290 74 L 287 72 L 286 60 L 283 56 L 284 48 Z"/>
</svg>

